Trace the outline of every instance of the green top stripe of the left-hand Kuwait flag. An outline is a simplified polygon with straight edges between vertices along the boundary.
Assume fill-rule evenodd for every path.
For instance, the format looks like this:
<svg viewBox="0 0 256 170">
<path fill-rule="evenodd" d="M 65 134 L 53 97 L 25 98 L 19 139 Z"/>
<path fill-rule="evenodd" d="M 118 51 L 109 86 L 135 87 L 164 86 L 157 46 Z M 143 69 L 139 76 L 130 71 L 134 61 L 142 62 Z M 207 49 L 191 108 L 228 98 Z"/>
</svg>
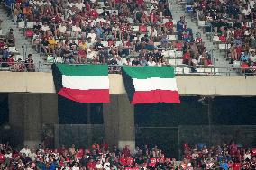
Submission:
<svg viewBox="0 0 256 170">
<path fill-rule="evenodd" d="M 107 65 L 67 65 L 56 64 L 62 75 L 66 76 L 108 76 Z"/>
</svg>

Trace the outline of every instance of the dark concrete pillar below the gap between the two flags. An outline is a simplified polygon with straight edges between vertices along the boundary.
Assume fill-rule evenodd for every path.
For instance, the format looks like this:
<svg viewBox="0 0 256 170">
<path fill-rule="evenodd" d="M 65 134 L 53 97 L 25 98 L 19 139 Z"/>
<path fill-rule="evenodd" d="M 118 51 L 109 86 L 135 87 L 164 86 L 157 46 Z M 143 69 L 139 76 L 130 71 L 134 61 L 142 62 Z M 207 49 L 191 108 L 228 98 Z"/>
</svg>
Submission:
<svg viewBox="0 0 256 170">
<path fill-rule="evenodd" d="M 119 148 L 135 148 L 134 107 L 127 94 L 112 94 L 110 103 L 103 104 L 105 140 Z"/>
</svg>

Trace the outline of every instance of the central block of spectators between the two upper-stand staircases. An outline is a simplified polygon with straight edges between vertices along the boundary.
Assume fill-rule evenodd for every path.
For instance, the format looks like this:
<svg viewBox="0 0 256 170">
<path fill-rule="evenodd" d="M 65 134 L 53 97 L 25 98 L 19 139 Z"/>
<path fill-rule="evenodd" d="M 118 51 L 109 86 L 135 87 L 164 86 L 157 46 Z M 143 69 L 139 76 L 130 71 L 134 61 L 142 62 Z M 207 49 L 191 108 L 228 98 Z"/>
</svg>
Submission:
<svg viewBox="0 0 256 170">
<path fill-rule="evenodd" d="M 172 20 L 167 0 L 16 0 L 12 13 L 15 24 L 26 22 L 25 36 L 47 61 L 161 67 L 178 58 L 189 66 L 212 64 L 185 17 Z"/>
</svg>

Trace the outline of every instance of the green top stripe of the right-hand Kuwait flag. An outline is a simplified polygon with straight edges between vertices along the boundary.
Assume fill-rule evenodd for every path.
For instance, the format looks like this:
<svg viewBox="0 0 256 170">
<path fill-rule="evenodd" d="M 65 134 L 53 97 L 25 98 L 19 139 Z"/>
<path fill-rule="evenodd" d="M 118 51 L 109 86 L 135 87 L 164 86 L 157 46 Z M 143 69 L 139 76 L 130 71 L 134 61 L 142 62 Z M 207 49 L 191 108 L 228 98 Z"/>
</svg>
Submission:
<svg viewBox="0 0 256 170">
<path fill-rule="evenodd" d="M 150 77 L 174 78 L 173 67 L 125 67 L 123 70 L 132 78 L 146 79 Z"/>
</svg>

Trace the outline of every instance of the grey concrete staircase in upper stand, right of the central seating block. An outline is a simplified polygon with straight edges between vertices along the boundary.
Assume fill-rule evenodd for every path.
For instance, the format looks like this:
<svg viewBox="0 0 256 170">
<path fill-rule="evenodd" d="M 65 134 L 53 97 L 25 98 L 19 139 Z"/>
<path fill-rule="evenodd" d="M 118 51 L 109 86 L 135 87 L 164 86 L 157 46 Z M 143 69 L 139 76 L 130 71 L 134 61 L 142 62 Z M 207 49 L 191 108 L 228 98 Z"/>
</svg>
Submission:
<svg viewBox="0 0 256 170">
<path fill-rule="evenodd" d="M 231 67 L 228 61 L 226 61 L 225 52 L 221 52 L 218 47 L 206 37 L 206 34 L 202 31 L 202 29 L 197 26 L 197 21 L 192 21 L 192 18 L 184 9 L 184 4 L 178 4 L 176 0 L 169 0 L 169 5 L 173 20 L 178 21 L 181 16 L 185 16 L 188 27 L 193 30 L 193 37 L 197 37 L 197 33 L 199 33 L 203 42 L 205 43 L 206 49 L 208 51 L 215 51 L 213 53 L 215 67 Z"/>
</svg>

